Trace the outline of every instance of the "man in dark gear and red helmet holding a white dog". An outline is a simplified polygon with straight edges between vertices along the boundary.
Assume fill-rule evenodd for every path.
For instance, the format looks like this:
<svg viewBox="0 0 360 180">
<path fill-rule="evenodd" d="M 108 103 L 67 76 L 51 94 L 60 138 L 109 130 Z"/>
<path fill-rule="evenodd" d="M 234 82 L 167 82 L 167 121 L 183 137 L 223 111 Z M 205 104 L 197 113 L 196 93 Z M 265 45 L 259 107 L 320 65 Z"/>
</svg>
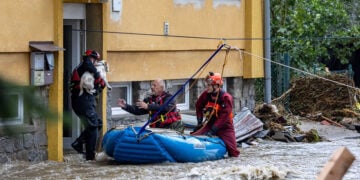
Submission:
<svg viewBox="0 0 360 180">
<path fill-rule="evenodd" d="M 83 152 L 83 144 L 85 144 L 86 160 L 95 159 L 95 146 L 98 138 L 98 131 L 102 128 L 102 120 L 95 109 L 95 96 L 101 92 L 105 87 L 104 81 L 101 79 L 94 63 L 100 59 L 100 54 L 94 50 L 87 50 L 83 55 L 82 62 L 73 70 L 71 76 L 71 106 L 79 116 L 85 129 L 81 135 L 71 144 L 71 146 L 78 152 Z M 90 94 L 84 91 L 80 93 L 81 76 L 89 72 L 94 75 L 94 87 L 96 92 Z"/>
</svg>

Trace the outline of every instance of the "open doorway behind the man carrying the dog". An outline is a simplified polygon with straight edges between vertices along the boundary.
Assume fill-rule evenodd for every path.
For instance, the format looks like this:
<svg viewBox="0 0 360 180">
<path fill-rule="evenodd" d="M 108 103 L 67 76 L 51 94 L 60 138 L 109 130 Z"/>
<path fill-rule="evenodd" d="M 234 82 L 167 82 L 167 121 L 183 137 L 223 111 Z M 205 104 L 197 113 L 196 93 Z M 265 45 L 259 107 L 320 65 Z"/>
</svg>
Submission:
<svg viewBox="0 0 360 180">
<path fill-rule="evenodd" d="M 66 50 L 64 51 L 63 82 L 63 147 L 65 150 L 71 149 L 71 143 L 81 133 L 81 122 L 71 107 L 70 79 L 72 70 L 80 64 L 85 49 L 102 49 L 102 34 L 84 31 L 92 28 L 102 30 L 101 17 L 102 4 L 64 3 L 63 42 Z M 91 19 L 91 21 L 87 22 L 86 19 Z"/>
</svg>

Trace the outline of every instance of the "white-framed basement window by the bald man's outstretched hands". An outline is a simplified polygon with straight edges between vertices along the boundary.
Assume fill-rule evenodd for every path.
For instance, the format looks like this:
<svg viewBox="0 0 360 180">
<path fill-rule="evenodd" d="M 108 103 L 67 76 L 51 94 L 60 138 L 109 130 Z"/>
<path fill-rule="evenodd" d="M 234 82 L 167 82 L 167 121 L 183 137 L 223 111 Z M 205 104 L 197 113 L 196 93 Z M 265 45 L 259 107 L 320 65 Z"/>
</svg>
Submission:
<svg viewBox="0 0 360 180">
<path fill-rule="evenodd" d="M 112 83 L 111 90 L 111 111 L 112 115 L 122 115 L 127 114 L 128 112 L 124 111 L 117 105 L 117 100 L 119 98 L 125 99 L 127 103 L 131 103 L 131 83 Z"/>
</svg>

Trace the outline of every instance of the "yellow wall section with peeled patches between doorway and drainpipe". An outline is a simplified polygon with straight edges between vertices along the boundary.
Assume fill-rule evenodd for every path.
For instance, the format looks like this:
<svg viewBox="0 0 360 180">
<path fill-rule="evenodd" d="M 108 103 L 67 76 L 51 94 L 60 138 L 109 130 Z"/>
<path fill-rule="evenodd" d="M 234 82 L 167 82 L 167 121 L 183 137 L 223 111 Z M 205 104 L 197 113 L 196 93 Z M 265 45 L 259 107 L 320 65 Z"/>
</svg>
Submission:
<svg viewBox="0 0 360 180">
<path fill-rule="evenodd" d="M 252 30 L 262 28 L 261 0 L 242 0 L 238 1 L 239 4 L 219 6 L 215 6 L 212 0 L 202 2 L 175 4 L 175 1 L 168 0 L 147 0 L 145 3 L 142 0 L 122 1 L 120 12 L 112 12 L 111 3 L 106 4 L 109 16 L 106 16 L 104 36 L 107 39 L 105 46 L 110 64 L 109 80 L 189 78 L 216 50 L 220 38 L 224 38 L 228 45 L 262 56 L 263 47 L 259 40 L 226 40 L 263 36 L 262 30 L 250 34 L 247 30 L 247 26 Z M 246 12 L 251 12 L 255 17 L 246 18 Z M 162 36 L 164 22 L 169 23 L 170 36 Z M 220 72 L 223 60 L 224 50 L 215 56 L 205 71 Z M 246 63 L 247 68 L 243 65 L 246 61 L 251 61 Z M 224 76 L 246 74 L 247 78 L 259 77 L 263 75 L 262 64 L 262 61 L 256 62 L 252 57 L 240 56 L 238 51 L 232 50 Z"/>
</svg>

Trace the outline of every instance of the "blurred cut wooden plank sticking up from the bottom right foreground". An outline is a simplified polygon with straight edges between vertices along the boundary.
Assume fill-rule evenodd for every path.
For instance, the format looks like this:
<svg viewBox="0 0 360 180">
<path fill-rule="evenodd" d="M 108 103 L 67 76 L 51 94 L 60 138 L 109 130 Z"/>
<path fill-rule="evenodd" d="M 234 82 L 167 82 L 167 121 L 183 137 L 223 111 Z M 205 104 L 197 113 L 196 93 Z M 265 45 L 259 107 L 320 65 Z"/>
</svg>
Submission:
<svg viewBox="0 0 360 180">
<path fill-rule="evenodd" d="M 346 147 L 339 148 L 321 170 L 317 180 L 341 180 L 354 160 L 354 155 Z"/>
</svg>

